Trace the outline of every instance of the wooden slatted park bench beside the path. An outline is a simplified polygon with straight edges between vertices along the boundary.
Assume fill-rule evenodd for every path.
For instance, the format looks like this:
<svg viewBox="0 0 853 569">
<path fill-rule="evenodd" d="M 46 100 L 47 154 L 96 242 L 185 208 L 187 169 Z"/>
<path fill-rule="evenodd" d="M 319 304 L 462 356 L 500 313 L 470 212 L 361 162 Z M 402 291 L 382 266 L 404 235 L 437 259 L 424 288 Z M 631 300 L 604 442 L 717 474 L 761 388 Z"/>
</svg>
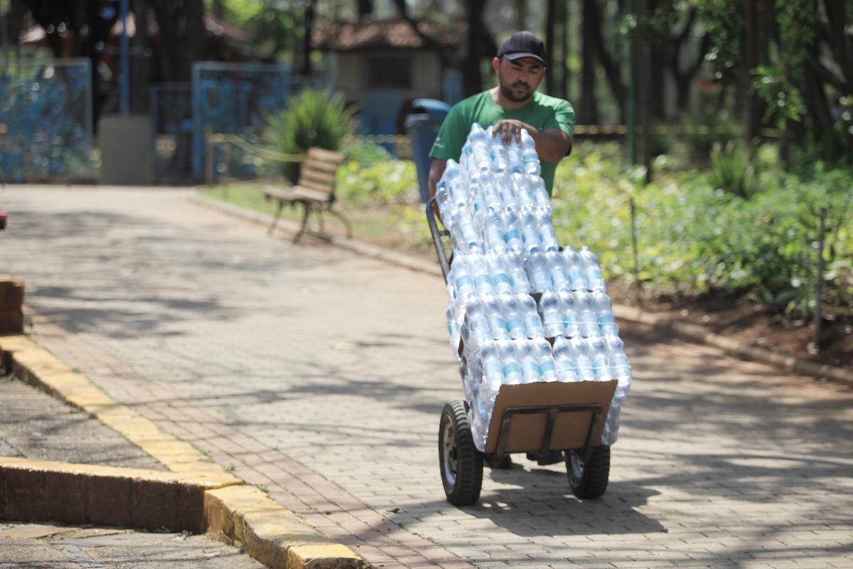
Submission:
<svg viewBox="0 0 853 569">
<path fill-rule="evenodd" d="M 295 186 L 289 188 L 266 186 L 264 198 L 268 201 L 278 201 L 276 217 L 270 224 L 270 234 L 276 229 L 278 218 L 281 217 L 281 208 L 285 204 L 290 206 L 299 204 L 303 208 L 302 226 L 299 228 L 299 232 L 293 236 L 294 243 L 299 241 L 299 237 L 305 233 L 311 212 L 316 213 L 320 224 L 319 235 L 324 235 L 322 214 L 328 212 L 340 219 L 345 225 L 346 236 L 351 237 L 352 226 L 350 221 L 343 214 L 332 209 L 334 206 L 334 177 L 343 161 L 344 155 L 339 152 L 323 148 L 309 148 L 307 157 L 299 165 L 299 181 Z"/>
</svg>

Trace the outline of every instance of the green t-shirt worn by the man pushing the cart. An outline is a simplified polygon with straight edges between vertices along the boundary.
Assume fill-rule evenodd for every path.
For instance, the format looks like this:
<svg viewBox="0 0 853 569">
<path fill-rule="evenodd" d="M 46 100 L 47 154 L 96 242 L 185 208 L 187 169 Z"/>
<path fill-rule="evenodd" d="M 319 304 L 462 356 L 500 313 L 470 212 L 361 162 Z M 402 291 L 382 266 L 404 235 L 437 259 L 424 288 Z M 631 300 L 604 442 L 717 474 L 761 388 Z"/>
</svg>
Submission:
<svg viewBox="0 0 853 569">
<path fill-rule="evenodd" d="M 543 129 L 560 129 L 567 135 L 574 137 L 575 109 L 572 103 L 558 99 L 553 96 L 534 92 L 531 102 L 521 108 L 499 107 L 491 98 L 490 90 L 485 90 L 478 95 L 470 96 L 458 102 L 453 108 L 432 144 L 430 158 L 441 160 L 459 160 L 462 154 L 462 145 L 471 125 L 479 123 L 483 128 L 494 125 L 504 119 L 516 119 L 527 123 L 539 131 Z M 557 170 L 555 162 L 542 163 L 542 177 L 548 194 L 554 186 L 554 171 Z"/>
</svg>

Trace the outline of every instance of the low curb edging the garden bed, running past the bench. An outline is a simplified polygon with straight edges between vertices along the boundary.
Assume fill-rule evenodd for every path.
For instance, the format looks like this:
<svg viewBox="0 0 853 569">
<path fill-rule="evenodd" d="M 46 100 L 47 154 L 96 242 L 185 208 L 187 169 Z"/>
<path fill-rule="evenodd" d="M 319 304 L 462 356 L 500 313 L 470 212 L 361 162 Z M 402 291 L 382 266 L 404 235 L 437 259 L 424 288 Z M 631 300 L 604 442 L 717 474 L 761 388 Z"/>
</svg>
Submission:
<svg viewBox="0 0 853 569">
<path fill-rule="evenodd" d="M 212 207 L 220 212 L 229 213 L 235 217 L 247 219 L 257 224 L 270 225 L 272 218 L 268 215 L 258 212 L 250 212 L 242 207 L 232 206 L 219 200 L 213 200 L 202 195 L 194 195 L 190 200 L 200 206 Z M 286 223 L 287 222 L 287 223 Z M 296 233 L 299 227 L 287 220 L 279 222 L 281 230 Z M 388 263 L 397 264 L 407 269 L 418 270 L 428 275 L 442 276 L 441 268 L 438 264 L 432 264 L 422 261 L 419 258 L 412 258 L 403 253 L 388 251 L 382 247 L 370 245 L 345 237 L 332 237 L 329 240 L 336 247 L 341 247 L 352 251 L 367 255 L 371 258 L 378 258 Z M 638 322 L 647 324 L 659 330 L 665 330 L 673 334 L 677 334 L 689 340 L 702 342 L 708 345 L 716 346 L 723 351 L 727 351 L 735 357 L 751 359 L 757 362 L 769 363 L 780 369 L 786 369 L 792 373 L 811 375 L 821 379 L 838 381 L 846 385 L 853 385 L 853 370 L 838 368 L 831 365 L 821 365 L 819 363 L 807 362 L 793 356 L 782 356 L 773 351 L 757 348 L 752 345 L 746 345 L 736 340 L 732 340 L 720 334 L 714 334 L 707 329 L 692 324 L 682 322 L 673 318 L 664 316 L 653 316 L 631 306 L 613 306 L 613 313 L 621 320 L 629 322 Z"/>
</svg>

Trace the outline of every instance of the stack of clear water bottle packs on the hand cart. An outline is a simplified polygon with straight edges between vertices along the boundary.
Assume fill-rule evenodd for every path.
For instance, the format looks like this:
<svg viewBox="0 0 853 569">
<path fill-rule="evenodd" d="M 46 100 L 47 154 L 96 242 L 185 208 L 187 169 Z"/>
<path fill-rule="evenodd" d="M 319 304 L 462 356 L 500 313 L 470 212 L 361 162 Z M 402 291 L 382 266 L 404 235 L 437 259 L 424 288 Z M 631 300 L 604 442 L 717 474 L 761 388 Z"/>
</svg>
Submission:
<svg viewBox="0 0 853 569">
<path fill-rule="evenodd" d="M 502 385 L 618 380 L 601 444 L 616 442 L 630 389 L 598 259 L 588 247 L 560 249 L 540 174 L 527 131 L 505 145 L 475 124 L 436 188 L 453 247 L 450 344 L 481 451 Z"/>
</svg>

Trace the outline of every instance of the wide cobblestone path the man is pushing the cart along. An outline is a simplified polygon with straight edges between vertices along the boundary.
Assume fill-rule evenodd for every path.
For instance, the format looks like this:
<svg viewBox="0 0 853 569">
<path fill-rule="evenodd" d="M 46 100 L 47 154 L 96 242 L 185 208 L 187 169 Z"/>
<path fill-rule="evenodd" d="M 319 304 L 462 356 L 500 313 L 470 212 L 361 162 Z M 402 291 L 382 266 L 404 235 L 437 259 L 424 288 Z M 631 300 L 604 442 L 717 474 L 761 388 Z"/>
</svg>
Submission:
<svg viewBox="0 0 853 569">
<path fill-rule="evenodd" d="M 444 501 L 444 287 L 184 190 L 6 189 L 35 340 L 385 567 L 853 566 L 853 392 L 623 324 L 611 483 L 519 457 Z"/>
</svg>

